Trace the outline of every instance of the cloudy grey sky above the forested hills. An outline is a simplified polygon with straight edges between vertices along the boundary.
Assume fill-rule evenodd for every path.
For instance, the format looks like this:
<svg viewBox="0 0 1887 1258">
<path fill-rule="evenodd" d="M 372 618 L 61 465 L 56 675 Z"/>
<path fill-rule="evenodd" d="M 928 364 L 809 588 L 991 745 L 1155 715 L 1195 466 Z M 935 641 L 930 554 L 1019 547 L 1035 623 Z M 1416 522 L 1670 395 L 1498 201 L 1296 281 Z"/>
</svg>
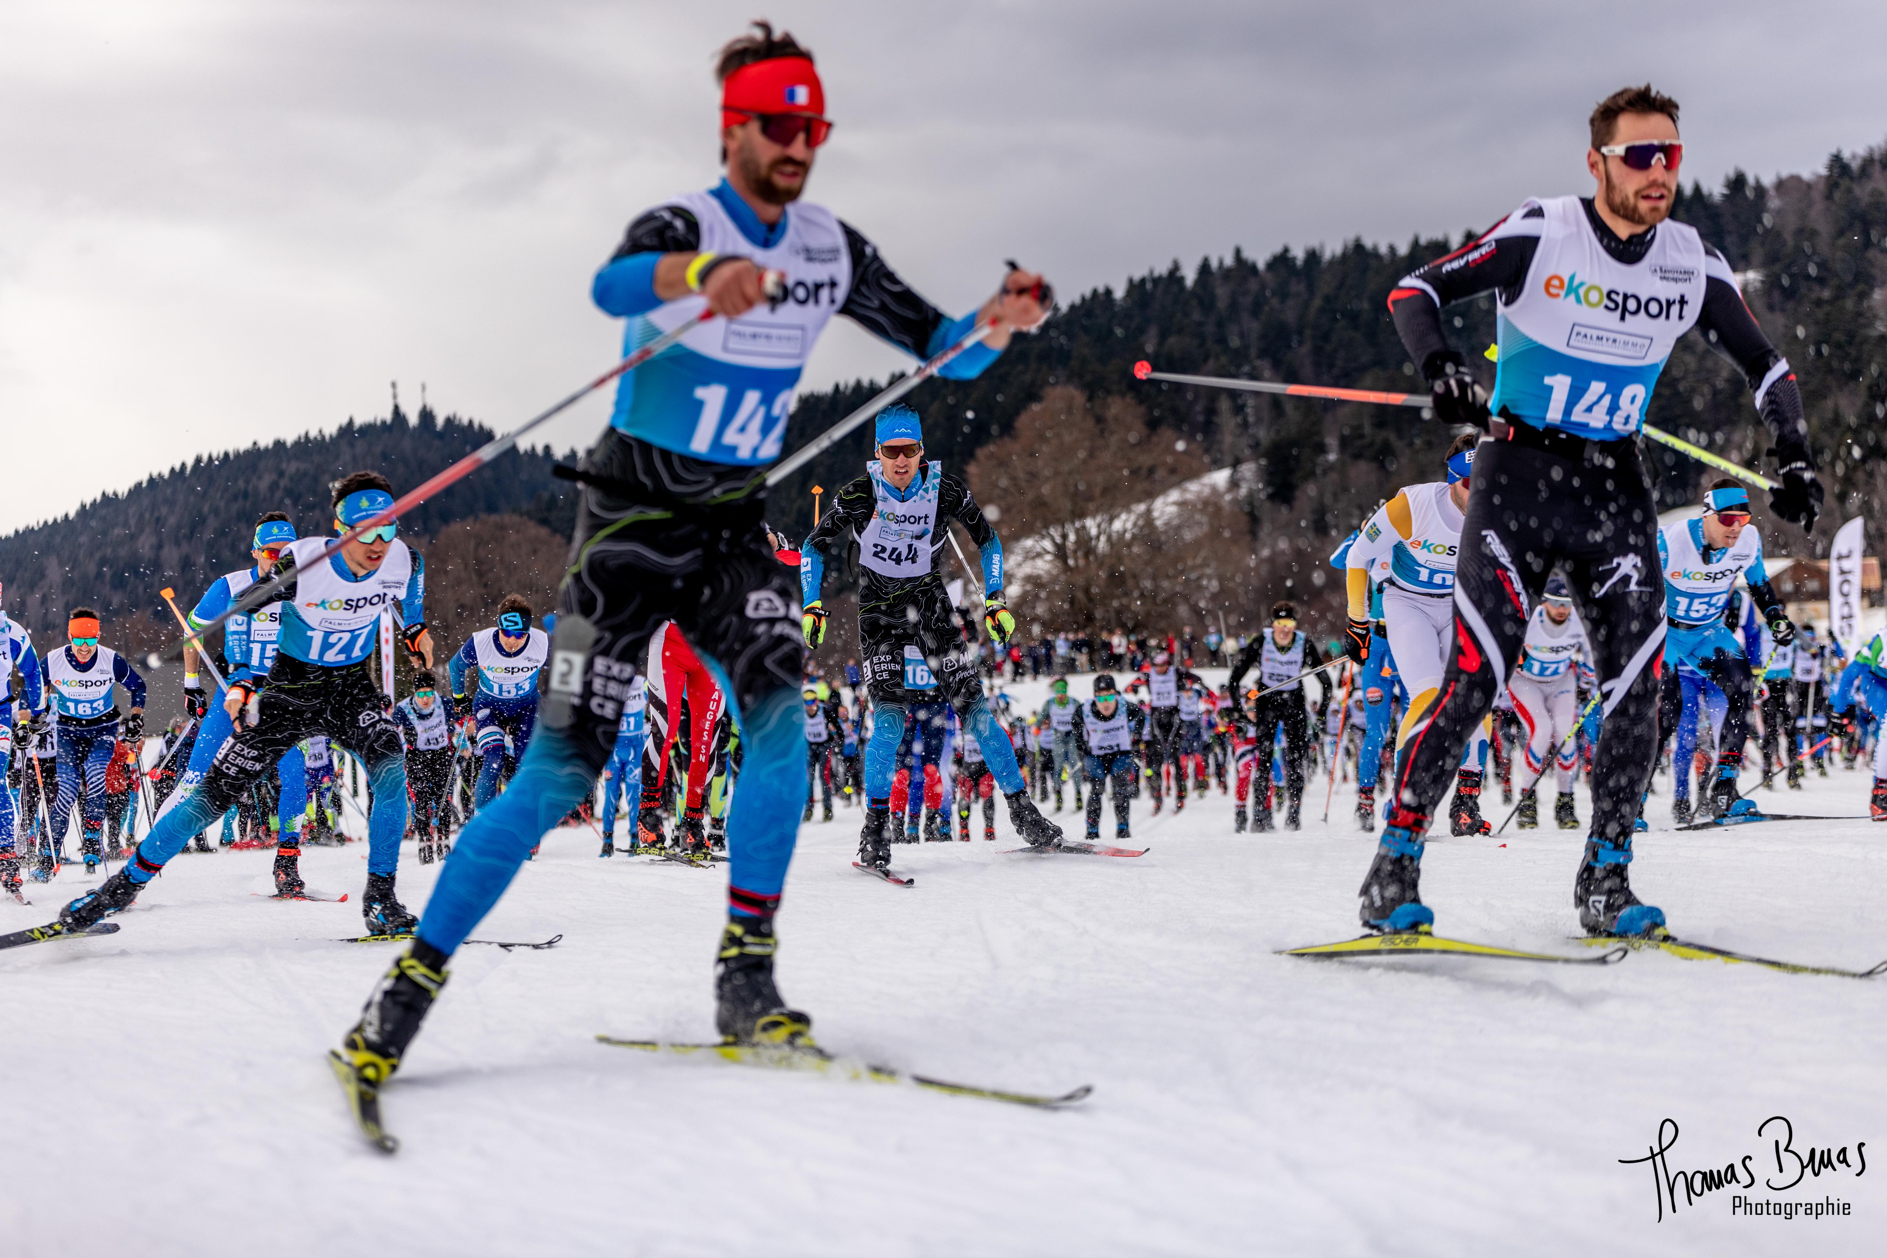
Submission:
<svg viewBox="0 0 1887 1258">
<path fill-rule="evenodd" d="M 589 277 L 717 179 L 711 51 L 762 13 L 838 121 L 810 196 L 957 311 L 1004 257 L 1079 292 L 1485 226 L 1589 190 L 1587 111 L 1647 77 L 1706 183 L 1887 140 L 1879 0 L 8 0 L 0 532 L 392 379 L 506 428 L 610 364 Z M 834 324 L 806 385 L 900 362 Z"/>
</svg>

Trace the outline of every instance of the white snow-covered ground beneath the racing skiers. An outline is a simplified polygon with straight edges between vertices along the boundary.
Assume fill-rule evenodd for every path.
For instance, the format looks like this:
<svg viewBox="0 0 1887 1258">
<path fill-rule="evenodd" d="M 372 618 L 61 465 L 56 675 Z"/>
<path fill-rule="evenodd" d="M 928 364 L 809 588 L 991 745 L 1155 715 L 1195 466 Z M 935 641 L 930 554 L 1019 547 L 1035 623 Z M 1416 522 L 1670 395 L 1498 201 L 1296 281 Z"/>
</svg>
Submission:
<svg viewBox="0 0 1887 1258">
<path fill-rule="evenodd" d="M 1757 798 L 1855 817 L 1866 783 Z M 802 828 L 779 979 L 819 1037 L 945 1079 L 1094 1084 L 1059 1113 L 594 1043 L 711 1035 L 725 877 L 557 832 L 476 934 L 564 941 L 459 954 L 385 1094 L 394 1158 L 325 1064 L 392 951 L 334 941 L 360 932 L 353 900 L 249 896 L 268 852 L 179 856 L 111 939 L 0 954 L 0 1254 L 1879 1252 L 1887 977 L 1276 956 L 1359 934 L 1374 837 L 1349 800 L 1321 824 L 1319 781 L 1304 832 L 1268 836 L 1232 836 L 1217 790 L 1177 817 L 1142 800 L 1138 860 L 1002 854 L 1004 819 L 996 843 L 894 849 L 911 890 L 849 868 L 857 811 Z M 1674 834 L 1668 803 L 1661 781 L 1634 883 L 1678 932 L 1887 958 L 1887 826 Z M 1442 934 L 1585 954 L 1566 937 L 1581 837 L 1434 841 Z M 304 871 L 359 898 L 364 862 L 311 849 Z M 406 900 L 434 875 L 408 849 Z M 81 885 L 0 902 L 0 930 Z M 1757 1135 L 1772 1115 L 1849 1167 L 1762 1188 L 1787 1183 L 1778 1128 Z M 1681 1183 L 1674 1213 L 1619 1162 L 1666 1118 L 1672 1173 L 1747 1156 L 1751 1201 L 1851 1215 L 1747 1218 Z"/>
</svg>

